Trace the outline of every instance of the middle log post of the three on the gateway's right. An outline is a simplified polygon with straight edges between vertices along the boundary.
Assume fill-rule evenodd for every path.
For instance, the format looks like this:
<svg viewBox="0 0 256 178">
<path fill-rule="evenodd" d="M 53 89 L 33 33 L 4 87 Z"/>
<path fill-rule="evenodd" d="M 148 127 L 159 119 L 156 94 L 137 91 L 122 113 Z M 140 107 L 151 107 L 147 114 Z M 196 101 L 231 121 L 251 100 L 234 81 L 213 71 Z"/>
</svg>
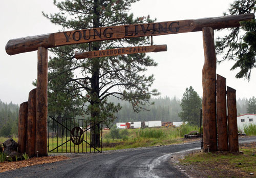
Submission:
<svg viewBox="0 0 256 178">
<path fill-rule="evenodd" d="M 228 151 L 226 78 L 217 74 L 217 126 L 219 151 Z"/>
</svg>

